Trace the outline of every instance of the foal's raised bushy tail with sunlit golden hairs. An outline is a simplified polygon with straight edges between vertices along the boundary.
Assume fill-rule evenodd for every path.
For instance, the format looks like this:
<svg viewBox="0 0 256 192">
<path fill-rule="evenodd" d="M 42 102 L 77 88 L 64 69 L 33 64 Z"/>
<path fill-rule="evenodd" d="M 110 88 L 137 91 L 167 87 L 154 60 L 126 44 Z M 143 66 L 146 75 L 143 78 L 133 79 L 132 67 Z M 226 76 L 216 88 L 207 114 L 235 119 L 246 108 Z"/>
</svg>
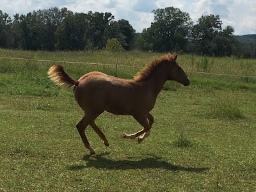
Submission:
<svg viewBox="0 0 256 192">
<path fill-rule="evenodd" d="M 77 81 L 76 79 L 68 76 L 68 74 L 64 71 L 63 67 L 61 67 L 60 65 L 53 65 L 51 68 L 49 68 L 47 74 L 54 83 L 63 87 L 69 88 L 73 85 L 77 86 L 79 83 L 79 81 Z"/>
</svg>

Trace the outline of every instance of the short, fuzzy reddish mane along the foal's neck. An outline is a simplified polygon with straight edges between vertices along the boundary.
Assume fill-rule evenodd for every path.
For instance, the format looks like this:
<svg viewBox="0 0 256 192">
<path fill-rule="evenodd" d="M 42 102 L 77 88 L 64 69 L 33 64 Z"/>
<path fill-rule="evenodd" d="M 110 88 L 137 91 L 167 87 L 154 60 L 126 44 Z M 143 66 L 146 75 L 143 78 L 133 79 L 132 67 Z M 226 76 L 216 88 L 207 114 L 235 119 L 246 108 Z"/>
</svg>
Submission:
<svg viewBox="0 0 256 192">
<path fill-rule="evenodd" d="M 140 82 L 149 79 L 154 71 L 165 61 L 174 60 L 175 54 L 164 54 L 161 58 L 154 58 L 134 77 L 134 81 Z"/>
</svg>

